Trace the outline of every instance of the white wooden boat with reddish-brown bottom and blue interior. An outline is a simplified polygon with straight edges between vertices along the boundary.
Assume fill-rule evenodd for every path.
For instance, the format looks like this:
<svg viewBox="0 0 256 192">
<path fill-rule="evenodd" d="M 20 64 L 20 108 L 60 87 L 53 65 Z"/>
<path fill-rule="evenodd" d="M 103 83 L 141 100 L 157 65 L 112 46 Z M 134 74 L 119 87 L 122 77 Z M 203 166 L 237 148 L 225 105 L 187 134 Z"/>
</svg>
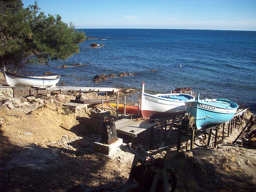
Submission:
<svg viewBox="0 0 256 192">
<path fill-rule="evenodd" d="M 185 102 L 195 100 L 194 96 L 184 93 L 147 94 L 144 92 L 144 85 L 143 82 L 142 93 L 138 94 L 141 114 L 144 119 L 184 115 L 186 113 Z"/>
</svg>

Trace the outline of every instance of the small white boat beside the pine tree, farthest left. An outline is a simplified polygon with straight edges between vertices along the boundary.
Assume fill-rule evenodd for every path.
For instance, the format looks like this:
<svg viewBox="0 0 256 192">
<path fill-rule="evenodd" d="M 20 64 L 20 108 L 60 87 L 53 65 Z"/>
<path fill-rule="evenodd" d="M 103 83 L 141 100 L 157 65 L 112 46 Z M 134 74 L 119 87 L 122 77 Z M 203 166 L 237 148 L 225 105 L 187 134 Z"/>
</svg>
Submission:
<svg viewBox="0 0 256 192">
<path fill-rule="evenodd" d="M 44 77 L 31 77 L 22 76 L 9 73 L 5 71 L 6 82 L 9 86 L 20 86 L 20 87 L 36 87 L 36 88 L 50 88 L 55 87 L 56 83 L 59 82 L 59 75 L 44 76 Z"/>
</svg>

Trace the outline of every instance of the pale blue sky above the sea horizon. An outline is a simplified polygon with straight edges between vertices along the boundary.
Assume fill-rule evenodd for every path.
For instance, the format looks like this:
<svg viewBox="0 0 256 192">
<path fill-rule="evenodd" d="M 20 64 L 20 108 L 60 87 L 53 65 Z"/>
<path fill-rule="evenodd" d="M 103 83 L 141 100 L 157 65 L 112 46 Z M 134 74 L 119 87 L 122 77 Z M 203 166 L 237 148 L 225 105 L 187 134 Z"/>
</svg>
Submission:
<svg viewBox="0 0 256 192">
<path fill-rule="evenodd" d="M 35 0 L 23 0 L 24 7 Z M 37 0 L 40 11 L 76 29 L 256 31 L 255 0 Z"/>
</svg>

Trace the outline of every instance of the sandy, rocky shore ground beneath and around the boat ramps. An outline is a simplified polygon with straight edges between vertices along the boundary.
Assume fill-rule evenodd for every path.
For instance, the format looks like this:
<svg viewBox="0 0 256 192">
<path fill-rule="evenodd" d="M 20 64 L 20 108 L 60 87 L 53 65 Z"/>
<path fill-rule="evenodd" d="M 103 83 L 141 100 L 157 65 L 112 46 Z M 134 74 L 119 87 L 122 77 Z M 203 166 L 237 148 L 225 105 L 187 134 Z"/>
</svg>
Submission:
<svg viewBox="0 0 256 192">
<path fill-rule="evenodd" d="M 2 81 L 3 82 L 3 81 Z M 185 90 L 185 89 L 184 89 Z M 183 90 L 183 91 L 184 91 Z M 180 89 L 176 90 L 177 92 Z M 189 91 L 189 89 L 185 90 Z M 65 103 L 80 93 L 15 90 L 15 98 L 0 103 L 0 190 L 1 191 L 126 191 L 133 155 L 125 149 L 106 156 L 93 152 L 101 135 L 86 123 L 97 105 L 72 111 Z M 105 98 L 97 93 L 82 93 L 82 98 Z M 104 104 L 105 108 L 111 107 Z M 113 114 L 115 115 L 115 114 Z M 199 136 L 196 147 L 177 152 L 177 130 L 159 143 L 160 126 L 155 130 L 154 150 L 149 150 L 148 133 L 136 138 L 155 158 L 165 160 L 177 175 L 176 191 L 255 191 L 256 152 L 242 140 L 230 144 L 245 127 L 252 114 L 237 122 L 237 129 L 214 148 L 214 138 L 206 147 Z M 169 124 L 164 135 L 169 132 Z M 124 142 L 129 138 L 124 137 Z M 160 146 L 167 146 L 160 148 Z M 73 190 L 74 191 L 74 190 Z M 76 190 L 77 191 L 77 190 Z"/>
</svg>

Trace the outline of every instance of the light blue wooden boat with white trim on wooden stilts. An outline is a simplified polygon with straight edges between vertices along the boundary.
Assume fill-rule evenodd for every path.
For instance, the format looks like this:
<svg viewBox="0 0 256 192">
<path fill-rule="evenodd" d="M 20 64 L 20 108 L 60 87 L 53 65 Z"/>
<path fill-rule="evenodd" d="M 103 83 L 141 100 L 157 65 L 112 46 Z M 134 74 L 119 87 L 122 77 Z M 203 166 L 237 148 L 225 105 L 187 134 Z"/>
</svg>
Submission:
<svg viewBox="0 0 256 192">
<path fill-rule="evenodd" d="M 199 99 L 185 102 L 186 111 L 194 116 L 197 129 L 200 130 L 207 125 L 224 123 L 233 118 L 237 112 L 238 105 L 228 99 Z"/>
</svg>

